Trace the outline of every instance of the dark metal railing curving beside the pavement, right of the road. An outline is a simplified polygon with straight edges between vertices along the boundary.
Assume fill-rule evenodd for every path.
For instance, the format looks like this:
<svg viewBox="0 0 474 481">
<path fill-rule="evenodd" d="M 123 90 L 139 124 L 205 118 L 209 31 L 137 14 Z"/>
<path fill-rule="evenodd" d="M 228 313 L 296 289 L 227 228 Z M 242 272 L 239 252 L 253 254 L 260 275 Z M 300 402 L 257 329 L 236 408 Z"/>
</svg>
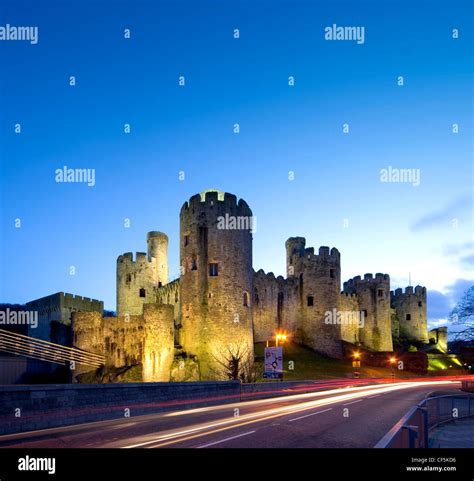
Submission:
<svg viewBox="0 0 474 481">
<path fill-rule="evenodd" d="M 474 395 L 427 398 L 408 411 L 374 447 L 427 448 L 434 427 L 469 416 L 474 416 Z"/>
</svg>

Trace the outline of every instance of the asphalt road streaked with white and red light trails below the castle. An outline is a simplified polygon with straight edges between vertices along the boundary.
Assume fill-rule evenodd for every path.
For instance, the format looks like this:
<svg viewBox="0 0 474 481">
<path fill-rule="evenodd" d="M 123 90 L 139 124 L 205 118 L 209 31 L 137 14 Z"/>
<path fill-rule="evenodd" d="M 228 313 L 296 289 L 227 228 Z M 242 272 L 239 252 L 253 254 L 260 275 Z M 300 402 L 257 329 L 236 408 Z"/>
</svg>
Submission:
<svg viewBox="0 0 474 481">
<path fill-rule="evenodd" d="M 373 447 L 417 402 L 458 381 L 383 383 L 0 436 L 21 448 Z"/>
</svg>

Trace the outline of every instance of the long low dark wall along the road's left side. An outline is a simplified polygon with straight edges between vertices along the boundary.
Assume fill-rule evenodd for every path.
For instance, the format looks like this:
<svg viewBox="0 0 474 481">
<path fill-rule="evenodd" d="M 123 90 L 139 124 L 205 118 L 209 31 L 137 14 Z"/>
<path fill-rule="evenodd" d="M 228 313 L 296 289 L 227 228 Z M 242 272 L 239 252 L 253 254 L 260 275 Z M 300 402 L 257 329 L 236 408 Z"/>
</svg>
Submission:
<svg viewBox="0 0 474 481">
<path fill-rule="evenodd" d="M 0 386 L 0 434 L 239 400 L 237 381 Z"/>
</svg>

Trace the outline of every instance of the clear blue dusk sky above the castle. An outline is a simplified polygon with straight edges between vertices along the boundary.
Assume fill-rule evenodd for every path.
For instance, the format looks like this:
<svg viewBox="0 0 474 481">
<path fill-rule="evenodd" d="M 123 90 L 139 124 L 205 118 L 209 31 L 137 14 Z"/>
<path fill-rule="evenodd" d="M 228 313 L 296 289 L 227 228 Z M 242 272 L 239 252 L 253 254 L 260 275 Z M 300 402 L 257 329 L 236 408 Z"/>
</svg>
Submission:
<svg viewBox="0 0 474 481">
<path fill-rule="evenodd" d="M 179 210 L 207 188 L 250 205 L 256 270 L 285 274 L 304 236 L 339 249 L 343 280 L 411 273 L 432 326 L 474 284 L 470 0 L 3 0 L 7 24 L 38 42 L 0 41 L 1 302 L 115 309 L 117 256 L 150 230 L 176 276 Z M 334 24 L 364 42 L 326 40 Z M 64 166 L 95 185 L 55 182 Z"/>
</svg>

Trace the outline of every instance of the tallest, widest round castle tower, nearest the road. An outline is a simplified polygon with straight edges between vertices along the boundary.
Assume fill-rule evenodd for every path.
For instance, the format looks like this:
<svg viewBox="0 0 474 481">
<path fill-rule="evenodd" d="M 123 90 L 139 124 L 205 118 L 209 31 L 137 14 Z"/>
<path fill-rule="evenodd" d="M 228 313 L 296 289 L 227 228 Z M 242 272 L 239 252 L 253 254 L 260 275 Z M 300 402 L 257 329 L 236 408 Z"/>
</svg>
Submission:
<svg viewBox="0 0 474 481">
<path fill-rule="evenodd" d="M 253 362 L 252 221 L 244 200 L 219 191 L 181 208 L 182 343 L 204 380 L 226 377 L 232 356 Z"/>
</svg>

